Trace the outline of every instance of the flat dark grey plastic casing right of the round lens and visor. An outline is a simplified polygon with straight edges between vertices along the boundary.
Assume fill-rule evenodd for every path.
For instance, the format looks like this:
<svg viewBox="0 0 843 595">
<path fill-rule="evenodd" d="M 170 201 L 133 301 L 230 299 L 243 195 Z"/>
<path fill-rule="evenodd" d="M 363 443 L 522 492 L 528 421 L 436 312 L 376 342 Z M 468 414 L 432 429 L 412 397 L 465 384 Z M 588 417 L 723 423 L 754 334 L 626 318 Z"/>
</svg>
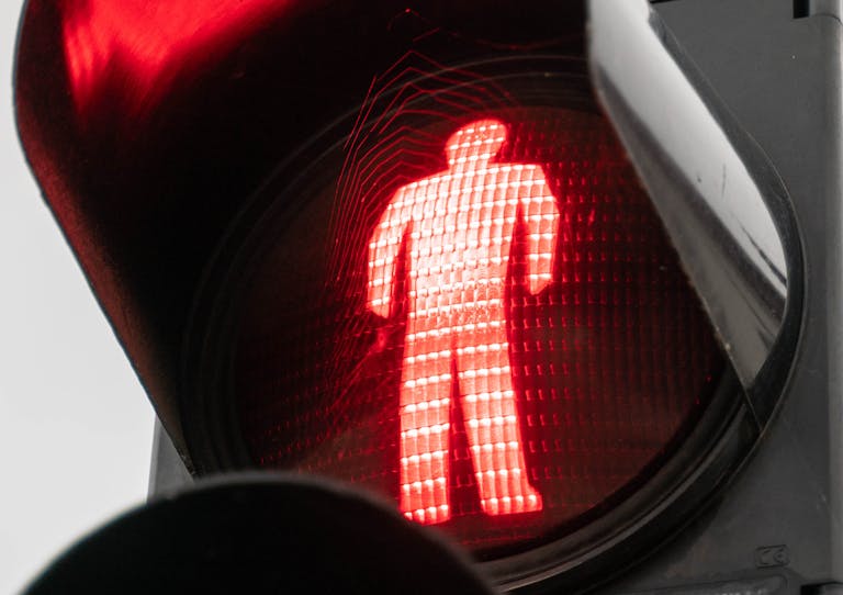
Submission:
<svg viewBox="0 0 843 595">
<path fill-rule="evenodd" d="M 843 582 L 841 21 L 832 2 L 653 4 L 767 154 L 803 252 L 799 339 L 779 409 L 720 496 L 600 593 L 836 593 Z"/>
</svg>

